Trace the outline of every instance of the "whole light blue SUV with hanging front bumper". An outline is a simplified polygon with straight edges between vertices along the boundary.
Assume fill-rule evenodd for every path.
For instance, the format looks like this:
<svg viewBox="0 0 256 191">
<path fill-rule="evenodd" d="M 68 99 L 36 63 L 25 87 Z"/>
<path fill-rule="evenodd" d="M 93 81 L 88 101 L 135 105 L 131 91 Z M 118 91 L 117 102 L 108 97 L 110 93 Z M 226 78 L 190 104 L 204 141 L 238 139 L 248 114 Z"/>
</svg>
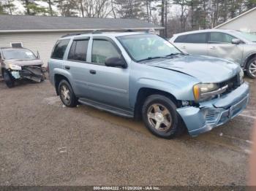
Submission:
<svg viewBox="0 0 256 191">
<path fill-rule="evenodd" d="M 48 67 L 64 105 L 143 118 L 148 130 L 162 138 L 185 128 L 197 136 L 236 117 L 249 101 L 240 66 L 184 54 L 154 34 L 63 36 Z"/>
</svg>

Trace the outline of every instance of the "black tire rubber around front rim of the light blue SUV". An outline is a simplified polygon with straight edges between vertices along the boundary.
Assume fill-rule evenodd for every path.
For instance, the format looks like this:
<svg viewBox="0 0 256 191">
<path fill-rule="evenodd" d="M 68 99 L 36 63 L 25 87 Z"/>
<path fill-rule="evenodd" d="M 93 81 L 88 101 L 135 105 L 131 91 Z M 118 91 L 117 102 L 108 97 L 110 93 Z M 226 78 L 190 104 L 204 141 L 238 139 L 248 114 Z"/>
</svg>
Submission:
<svg viewBox="0 0 256 191">
<path fill-rule="evenodd" d="M 148 122 L 147 111 L 149 106 L 151 106 L 152 104 L 162 104 L 169 110 L 172 117 L 172 125 L 170 130 L 167 130 L 166 132 L 161 132 L 153 128 L 151 124 Z M 143 116 L 143 122 L 145 123 L 146 128 L 148 128 L 148 130 L 150 130 L 151 133 L 153 133 L 156 136 L 159 136 L 165 139 L 172 139 L 181 133 L 181 128 L 179 127 L 181 122 L 180 122 L 180 117 L 178 116 L 178 112 L 176 112 L 176 104 L 174 104 L 173 101 L 171 101 L 170 98 L 167 98 L 165 95 L 148 96 L 148 98 L 146 98 L 146 101 L 143 104 L 142 116 Z"/>
</svg>

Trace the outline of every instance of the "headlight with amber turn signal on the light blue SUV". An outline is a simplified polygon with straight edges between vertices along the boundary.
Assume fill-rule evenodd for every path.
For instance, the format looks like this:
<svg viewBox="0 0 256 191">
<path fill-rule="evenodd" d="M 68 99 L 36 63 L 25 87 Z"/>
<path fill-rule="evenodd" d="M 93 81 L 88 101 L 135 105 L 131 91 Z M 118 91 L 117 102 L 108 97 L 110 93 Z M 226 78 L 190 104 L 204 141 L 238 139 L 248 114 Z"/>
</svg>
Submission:
<svg viewBox="0 0 256 191">
<path fill-rule="evenodd" d="M 214 93 L 214 91 L 218 89 L 219 85 L 213 83 L 194 85 L 193 93 L 195 96 L 195 101 L 203 101 L 217 95 L 216 93 Z"/>
</svg>

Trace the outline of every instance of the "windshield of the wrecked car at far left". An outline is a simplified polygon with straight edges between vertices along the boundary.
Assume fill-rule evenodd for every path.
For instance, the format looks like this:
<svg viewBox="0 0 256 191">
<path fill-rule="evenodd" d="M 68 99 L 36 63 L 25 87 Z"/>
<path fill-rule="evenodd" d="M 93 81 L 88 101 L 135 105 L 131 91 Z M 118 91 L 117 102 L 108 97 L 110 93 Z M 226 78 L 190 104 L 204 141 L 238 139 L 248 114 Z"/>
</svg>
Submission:
<svg viewBox="0 0 256 191">
<path fill-rule="evenodd" d="M 10 60 L 10 59 L 36 59 L 36 56 L 33 52 L 27 49 L 8 49 L 8 50 L 2 50 L 4 59 Z"/>
</svg>

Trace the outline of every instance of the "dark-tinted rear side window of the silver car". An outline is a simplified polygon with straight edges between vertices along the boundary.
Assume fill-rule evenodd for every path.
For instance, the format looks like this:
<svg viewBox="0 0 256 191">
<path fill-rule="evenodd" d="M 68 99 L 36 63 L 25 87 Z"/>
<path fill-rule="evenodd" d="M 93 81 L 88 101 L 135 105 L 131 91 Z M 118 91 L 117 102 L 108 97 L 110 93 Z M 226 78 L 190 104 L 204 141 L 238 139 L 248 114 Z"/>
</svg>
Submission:
<svg viewBox="0 0 256 191">
<path fill-rule="evenodd" d="M 207 34 L 206 33 L 197 33 L 197 34 L 187 34 L 183 36 L 178 36 L 174 42 L 183 42 L 183 43 L 206 43 Z"/>
</svg>

